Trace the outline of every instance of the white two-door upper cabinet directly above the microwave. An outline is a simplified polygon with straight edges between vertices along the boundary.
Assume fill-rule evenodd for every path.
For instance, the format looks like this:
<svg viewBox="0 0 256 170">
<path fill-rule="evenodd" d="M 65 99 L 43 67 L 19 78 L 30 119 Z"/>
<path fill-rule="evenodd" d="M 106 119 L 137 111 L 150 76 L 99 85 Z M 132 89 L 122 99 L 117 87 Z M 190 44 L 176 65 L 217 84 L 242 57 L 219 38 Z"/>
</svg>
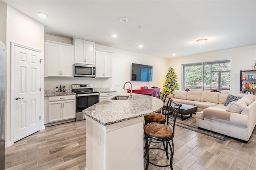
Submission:
<svg viewBox="0 0 256 170">
<path fill-rule="evenodd" d="M 73 38 L 74 63 L 95 65 L 95 42 Z"/>
</svg>

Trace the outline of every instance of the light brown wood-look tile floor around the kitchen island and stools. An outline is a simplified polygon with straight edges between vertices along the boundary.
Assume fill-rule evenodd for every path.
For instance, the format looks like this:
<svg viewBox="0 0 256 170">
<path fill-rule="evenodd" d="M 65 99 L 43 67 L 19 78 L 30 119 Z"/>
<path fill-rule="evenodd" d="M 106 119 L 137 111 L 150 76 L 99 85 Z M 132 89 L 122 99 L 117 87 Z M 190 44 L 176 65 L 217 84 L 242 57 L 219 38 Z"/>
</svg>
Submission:
<svg viewBox="0 0 256 170">
<path fill-rule="evenodd" d="M 6 169 L 84 170 L 85 121 L 46 127 L 6 148 Z M 159 145 L 159 144 L 156 144 Z M 256 128 L 249 142 L 218 140 L 182 127 L 175 127 L 174 170 L 256 169 Z M 152 150 L 152 162 L 165 164 L 165 154 Z M 149 165 L 149 170 L 169 170 Z M 122 167 L 120 167 L 122 170 Z"/>
</svg>

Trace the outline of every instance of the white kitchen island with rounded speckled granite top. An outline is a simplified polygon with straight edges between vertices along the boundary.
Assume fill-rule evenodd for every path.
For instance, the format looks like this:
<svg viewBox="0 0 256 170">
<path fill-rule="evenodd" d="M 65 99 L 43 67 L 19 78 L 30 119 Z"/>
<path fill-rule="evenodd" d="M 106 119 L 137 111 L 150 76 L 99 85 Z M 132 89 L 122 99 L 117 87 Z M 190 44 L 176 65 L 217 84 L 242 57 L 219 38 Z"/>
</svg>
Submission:
<svg viewBox="0 0 256 170">
<path fill-rule="evenodd" d="M 83 110 L 86 117 L 86 170 L 143 170 L 144 116 L 163 107 L 162 100 L 133 94 L 107 99 Z"/>
</svg>

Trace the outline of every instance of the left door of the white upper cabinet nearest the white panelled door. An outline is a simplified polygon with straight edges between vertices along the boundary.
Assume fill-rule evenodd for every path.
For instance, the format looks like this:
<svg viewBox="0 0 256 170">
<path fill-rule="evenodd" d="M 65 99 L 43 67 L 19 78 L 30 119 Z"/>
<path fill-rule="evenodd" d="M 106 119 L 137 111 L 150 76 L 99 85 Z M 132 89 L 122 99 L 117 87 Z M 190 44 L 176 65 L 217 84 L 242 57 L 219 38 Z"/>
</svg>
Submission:
<svg viewBox="0 0 256 170">
<path fill-rule="evenodd" d="M 45 43 L 45 77 L 61 76 L 60 44 Z"/>
</svg>

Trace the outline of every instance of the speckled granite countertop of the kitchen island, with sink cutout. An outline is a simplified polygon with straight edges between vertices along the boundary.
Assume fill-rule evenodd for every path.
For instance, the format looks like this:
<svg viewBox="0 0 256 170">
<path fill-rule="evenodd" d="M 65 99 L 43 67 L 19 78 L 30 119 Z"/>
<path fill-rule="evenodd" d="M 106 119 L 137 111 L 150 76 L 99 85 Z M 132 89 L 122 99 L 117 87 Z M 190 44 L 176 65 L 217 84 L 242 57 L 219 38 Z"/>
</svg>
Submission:
<svg viewBox="0 0 256 170">
<path fill-rule="evenodd" d="M 84 109 L 84 115 L 106 126 L 155 113 L 164 105 L 163 101 L 156 97 L 134 93 L 132 99 L 111 100 L 110 98 L 112 97 Z"/>
</svg>

